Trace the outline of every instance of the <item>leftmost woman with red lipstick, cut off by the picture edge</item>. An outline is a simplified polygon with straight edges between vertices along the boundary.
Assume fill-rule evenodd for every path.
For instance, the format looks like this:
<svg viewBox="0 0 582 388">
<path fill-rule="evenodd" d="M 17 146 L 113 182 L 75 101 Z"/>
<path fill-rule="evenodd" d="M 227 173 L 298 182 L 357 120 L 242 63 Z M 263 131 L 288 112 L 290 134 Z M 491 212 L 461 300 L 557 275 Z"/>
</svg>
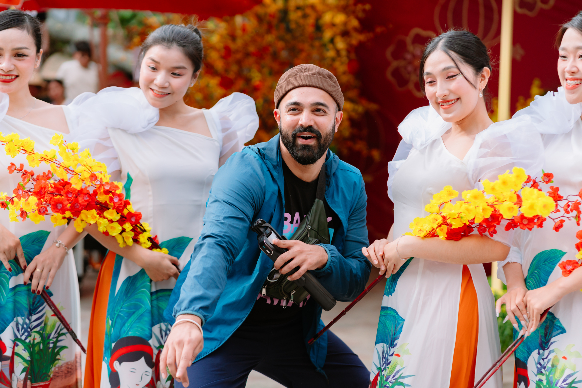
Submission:
<svg viewBox="0 0 582 388">
<path fill-rule="evenodd" d="M 30 95 L 28 82 L 42 55 L 40 23 L 19 10 L 0 12 L 0 47 L 0 132 L 19 136 L 27 148 L 35 144 L 52 148 L 49 142 L 55 131 L 73 130 L 73 115 L 68 106 L 47 104 Z M 34 176 L 38 163 L 12 145 L 6 151 L 0 152 L 0 197 L 14 201 L 0 202 L 0 340 L 15 366 L 10 376 L 0 373 L 0 386 L 44 383 L 48 387 L 51 379 L 57 386 L 80 384 L 79 347 L 39 294 L 45 286 L 80 333 L 79 284 L 70 248 L 83 233 L 66 222 L 53 227 L 49 220 L 34 216 L 27 220 L 34 202 L 15 187 L 24 170 L 28 173 L 24 175 Z M 34 353 L 31 344 L 38 345 Z"/>
</svg>

